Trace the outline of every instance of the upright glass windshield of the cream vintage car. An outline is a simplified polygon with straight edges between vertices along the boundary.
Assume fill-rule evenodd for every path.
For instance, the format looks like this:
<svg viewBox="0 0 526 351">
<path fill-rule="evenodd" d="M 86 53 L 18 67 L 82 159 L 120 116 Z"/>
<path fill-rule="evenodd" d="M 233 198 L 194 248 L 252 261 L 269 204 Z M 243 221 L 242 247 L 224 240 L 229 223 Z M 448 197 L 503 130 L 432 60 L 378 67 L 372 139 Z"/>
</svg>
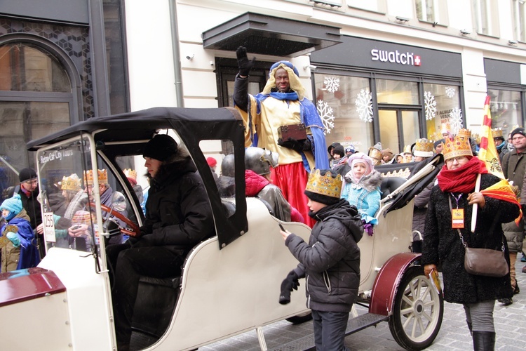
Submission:
<svg viewBox="0 0 526 351">
<path fill-rule="evenodd" d="M 93 252 L 100 231 L 93 199 L 88 138 L 41 149 L 37 154 L 46 250 L 51 247 Z"/>
</svg>

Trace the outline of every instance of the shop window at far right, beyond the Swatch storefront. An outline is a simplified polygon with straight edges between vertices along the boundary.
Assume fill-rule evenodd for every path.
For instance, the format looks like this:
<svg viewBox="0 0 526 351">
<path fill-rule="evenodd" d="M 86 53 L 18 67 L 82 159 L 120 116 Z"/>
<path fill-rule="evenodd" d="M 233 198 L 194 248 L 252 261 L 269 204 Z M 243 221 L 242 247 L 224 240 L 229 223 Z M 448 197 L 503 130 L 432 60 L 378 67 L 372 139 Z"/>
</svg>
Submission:
<svg viewBox="0 0 526 351">
<path fill-rule="evenodd" d="M 520 91 L 487 89 L 487 94 L 491 98 L 492 128 L 502 128 L 506 138 L 513 128 L 522 126 Z"/>
</svg>

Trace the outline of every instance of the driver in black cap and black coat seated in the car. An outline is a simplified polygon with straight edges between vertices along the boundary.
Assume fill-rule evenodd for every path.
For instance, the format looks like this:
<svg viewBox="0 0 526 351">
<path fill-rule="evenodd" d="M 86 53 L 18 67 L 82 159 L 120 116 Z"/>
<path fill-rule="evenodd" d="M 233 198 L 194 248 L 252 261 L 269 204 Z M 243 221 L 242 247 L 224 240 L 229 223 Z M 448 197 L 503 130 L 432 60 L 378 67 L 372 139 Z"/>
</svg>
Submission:
<svg viewBox="0 0 526 351">
<path fill-rule="evenodd" d="M 180 275 L 189 251 L 215 234 L 208 195 L 188 152 L 163 134 L 155 135 L 142 155 L 150 183 L 146 218 L 135 237 L 107 246 L 114 270 L 112 300 L 119 351 L 130 347 L 140 277 Z"/>
</svg>

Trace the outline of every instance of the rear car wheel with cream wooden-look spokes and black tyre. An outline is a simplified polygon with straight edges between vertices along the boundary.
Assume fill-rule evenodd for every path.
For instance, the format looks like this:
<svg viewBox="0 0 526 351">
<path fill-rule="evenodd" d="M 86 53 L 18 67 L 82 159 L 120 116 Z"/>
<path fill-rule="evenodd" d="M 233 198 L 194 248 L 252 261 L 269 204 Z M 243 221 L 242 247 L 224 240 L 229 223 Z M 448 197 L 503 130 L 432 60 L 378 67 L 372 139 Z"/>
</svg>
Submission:
<svg viewBox="0 0 526 351">
<path fill-rule="evenodd" d="M 396 291 L 389 329 L 398 345 L 422 350 L 435 340 L 444 314 L 444 300 L 424 276 L 421 266 L 410 267 Z"/>
</svg>

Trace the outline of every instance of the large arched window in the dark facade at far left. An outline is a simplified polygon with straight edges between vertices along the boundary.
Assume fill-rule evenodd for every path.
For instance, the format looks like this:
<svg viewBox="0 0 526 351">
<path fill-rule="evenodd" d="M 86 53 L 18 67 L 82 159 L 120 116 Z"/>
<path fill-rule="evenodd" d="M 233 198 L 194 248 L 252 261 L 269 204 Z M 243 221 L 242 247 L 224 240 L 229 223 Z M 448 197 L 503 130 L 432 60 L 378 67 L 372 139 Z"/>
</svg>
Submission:
<svg viewBox="0 0 526 351">
<path fill-rule="evenodd" d="M 71 123 L 69 76 L 54 55 L 17 42 L 0 46 L 0 191 L 18 183 L 18 171 L 34 168 L 29 140 Z"/>
</svg>

